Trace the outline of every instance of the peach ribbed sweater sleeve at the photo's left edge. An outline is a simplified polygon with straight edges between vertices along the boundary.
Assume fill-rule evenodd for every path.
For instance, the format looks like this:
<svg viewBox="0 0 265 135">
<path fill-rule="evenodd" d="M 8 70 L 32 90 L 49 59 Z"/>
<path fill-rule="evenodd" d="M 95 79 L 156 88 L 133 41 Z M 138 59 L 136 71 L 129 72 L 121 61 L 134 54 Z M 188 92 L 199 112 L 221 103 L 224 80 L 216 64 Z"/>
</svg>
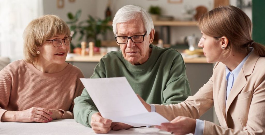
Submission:
<svg viewBox="0 0 265 135">
<path fill-rule="evenodd" d="M 9 103 L 10 92 L 12 88 L 12 79 L 7 74 L 7 67 L 0 71 L 0 122 L 2 115 L 8 111 L 5 110 Z"/>
</svg>

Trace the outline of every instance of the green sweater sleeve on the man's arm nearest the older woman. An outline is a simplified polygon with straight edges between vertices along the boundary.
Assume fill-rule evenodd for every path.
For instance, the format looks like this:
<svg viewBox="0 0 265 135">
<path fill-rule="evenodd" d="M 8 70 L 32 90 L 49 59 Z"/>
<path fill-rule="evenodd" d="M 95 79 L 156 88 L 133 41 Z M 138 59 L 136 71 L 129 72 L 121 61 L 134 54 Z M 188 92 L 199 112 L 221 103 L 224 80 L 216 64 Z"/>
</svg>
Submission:
<svg viewBox="0 0 265 135">
<path fill-rule="evenodd" d="M 105 66 L 101 59 L 94 69 L 94 73 L 90 78 L 105 78 Z M 96 105 L 89 96 L 86 89 L 83 90 L 81 96 L 74 99 L 74 119 L 86 127 L 91 127 L 91 116 L 98 112 Z"/>
</svg>

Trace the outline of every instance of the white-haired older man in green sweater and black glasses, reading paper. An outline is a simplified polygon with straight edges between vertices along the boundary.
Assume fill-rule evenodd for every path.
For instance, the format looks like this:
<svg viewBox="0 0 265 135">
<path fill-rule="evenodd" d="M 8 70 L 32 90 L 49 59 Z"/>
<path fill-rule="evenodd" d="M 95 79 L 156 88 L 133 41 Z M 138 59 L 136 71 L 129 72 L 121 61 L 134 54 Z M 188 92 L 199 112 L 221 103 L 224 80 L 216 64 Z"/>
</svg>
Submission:
<svg viewBox="0 0 265 135">
<path fill-rule="evenodd" d="M 113 19 L 113 32 L 121 51 L 101 58 L 91 78 L 125 76 L 135 93 L 147 103 L 176 104 L 191 95 L 180 53 L 151 44 L 154 25 L 147 11 L 139 6 L 122 7 Z M 86 89 L 74 102 L 75 120 L 95 133 L 131 127 L 104 119 Z M 155 111 L 155 107 L 151 106 L 151 110 Z"/>
</svg>

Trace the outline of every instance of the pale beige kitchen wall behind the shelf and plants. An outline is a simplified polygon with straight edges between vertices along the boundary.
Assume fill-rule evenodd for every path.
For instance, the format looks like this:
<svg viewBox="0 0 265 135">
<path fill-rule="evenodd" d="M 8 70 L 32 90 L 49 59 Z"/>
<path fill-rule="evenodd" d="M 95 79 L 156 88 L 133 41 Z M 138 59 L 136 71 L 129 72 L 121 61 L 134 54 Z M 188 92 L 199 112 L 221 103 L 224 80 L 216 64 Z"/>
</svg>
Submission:
<svg viewBox="0 0 265 135">
<path fill-rule="evenodd" d="M 67 21 L 67 13 L 73 12 L 75 13 L 78 9 L 82 9 L 82 15 L 80 20 L 84 20 L 87 18 L 87 15 L 90 14 L 92 16 L 97 16 L 99 18 L 105 18 L 105 10 L 108 4 L 108 0 L 76 0 L 71 3 L 68 0 L 64 0 L 65 5 L 64 8 L 57 8 L 56 1 L 54 0 L 44 0 L 44 14 L 56 14 L 59 15 L 63 20 Z M 111 1 L 111 11 L 112 16 L 125 5 L 138 5 L 148 10 L 148 8 L 153 6 L 160 6 L 162 9 L 162 15 L 173 16 L 175 20 L 183 19 L 183 10 L 184 6 L 192 6 L 197 7 L 200 5 L 204 5 L 208 8 L 208 11 L 213 9 L 214 0 L 203 0 L 203 1 L 194 1 L 194 0 L 183 0 L 182 3 L 174 4 L 168 3 L 167 0 L 110 0 Z M 236 0 L 230 0 L 230 4 L 236 6 Z M 246 9 L 246 13 L 252 18 L 251 11 Z M 155 27 L 156 31 L 160 31 L 160 27 Z M 201 32 L 198 27 L 170 27 L 170 37 L 171 44 L 175 44 L 177 41 L 183 39 L 184 36 L 191 36 L 195 34 L 197 38 L 201 37 Z M 166 33 L 164 33 L 166 35 Z M 105 36 L 105 40 L 114 40 L 114 35 L 112 32 L 108 32 L 107 36 Z M 76 40 L 73 40 L 76 42 Z"/>
</svg>

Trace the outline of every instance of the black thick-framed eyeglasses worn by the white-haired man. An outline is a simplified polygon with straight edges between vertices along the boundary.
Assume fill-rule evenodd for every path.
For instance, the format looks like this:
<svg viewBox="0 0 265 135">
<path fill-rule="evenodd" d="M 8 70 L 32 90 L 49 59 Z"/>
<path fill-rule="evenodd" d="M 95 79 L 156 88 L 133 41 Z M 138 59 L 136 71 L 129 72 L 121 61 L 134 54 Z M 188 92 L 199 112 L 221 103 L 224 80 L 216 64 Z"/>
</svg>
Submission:
<svg viewBox="0 0 265 135">
<path fill-rule="evenodd" d="M 144 36 L 146 35 L 147 31 L 143 35 L 135 35 L 131 37 L 127 36 L 116 36 L 115 39 L 117 43 L 125 44 L 128 42 L 129 39 L 131 39 L 134 43 L 142 43 L 144 42 Z"/>
</svg>

